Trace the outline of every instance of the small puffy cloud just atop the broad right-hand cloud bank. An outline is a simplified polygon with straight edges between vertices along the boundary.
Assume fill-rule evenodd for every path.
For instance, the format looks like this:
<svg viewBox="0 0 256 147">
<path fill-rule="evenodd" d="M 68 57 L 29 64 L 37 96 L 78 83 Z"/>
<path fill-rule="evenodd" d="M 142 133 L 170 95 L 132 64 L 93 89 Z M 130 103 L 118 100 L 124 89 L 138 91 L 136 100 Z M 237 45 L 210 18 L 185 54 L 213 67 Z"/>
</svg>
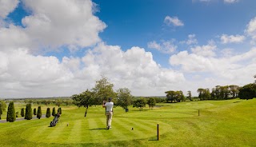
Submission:
<svg viewBox="0 0 256 147">
<path fill-rule="evenodd" d="M 217 49 L 217 46 L 215 45 L 214 41 L 210 41 L 206 46 L 195 46 L 191 48 L 191 51 L 194 54 L 197 54 L 200 56 L 214 57 L 215 56 L 214 50 L 216 49 Z"/>
</svg>

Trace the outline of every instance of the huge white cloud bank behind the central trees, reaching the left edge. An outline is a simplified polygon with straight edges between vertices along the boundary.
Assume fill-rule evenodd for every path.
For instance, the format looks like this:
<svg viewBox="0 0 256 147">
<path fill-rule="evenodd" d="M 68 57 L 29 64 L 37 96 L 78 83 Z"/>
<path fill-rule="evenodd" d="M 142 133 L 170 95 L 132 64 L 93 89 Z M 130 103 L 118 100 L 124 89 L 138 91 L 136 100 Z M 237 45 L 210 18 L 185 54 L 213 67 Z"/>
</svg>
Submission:
<svg viewBox="0 0 256 147">
<path fill-rule="evenodd" d="M 105 75 L 114 89 L 127 87 L 134 95 L 164 95 L 185 81 L 182 73 L 162 68 L 139 47 L 99 43 L 82 58 L 34 56 L 27 49 L 0 51 L 2 97 L 70 96 L 91 89 Z M 177 86 L 176 86 L 177 85 Z"/>
</svg>

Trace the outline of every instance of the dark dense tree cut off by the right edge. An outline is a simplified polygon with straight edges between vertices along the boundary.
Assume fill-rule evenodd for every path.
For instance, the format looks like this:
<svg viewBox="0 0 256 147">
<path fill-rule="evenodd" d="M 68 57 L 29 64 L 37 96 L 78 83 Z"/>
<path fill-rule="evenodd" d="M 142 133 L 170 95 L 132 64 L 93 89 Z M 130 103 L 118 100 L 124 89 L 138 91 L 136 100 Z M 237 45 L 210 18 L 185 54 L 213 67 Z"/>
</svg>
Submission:
<svg viewBox="0 0 256 147">
<path fill-rule="evenodd" d="M 247 84 L 239 89 L 238 97 L 240 99 L 253 99 L 256 97 L 256 84 Z"/>
</svg>

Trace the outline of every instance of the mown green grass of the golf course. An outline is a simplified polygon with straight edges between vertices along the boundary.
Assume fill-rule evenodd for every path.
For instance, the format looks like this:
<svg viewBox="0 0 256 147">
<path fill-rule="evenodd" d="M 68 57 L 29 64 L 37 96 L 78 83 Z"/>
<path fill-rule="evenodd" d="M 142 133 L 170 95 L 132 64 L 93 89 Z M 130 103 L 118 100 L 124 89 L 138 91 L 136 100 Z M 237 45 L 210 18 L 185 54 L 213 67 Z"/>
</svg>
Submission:
<svg viewBox="0 0 256 147">
<path fill-rule="evenodd" d="M 55 127 L 49 127 L 53 117 L 0 123 L 0 146 L 256 146 L 256 99 L 159 105 L 143 111 L 130 107 L 128 113 L 115 108 L 110 130 L 105 129 L 100 105 L 90 107 L 87 117 L 85 108 L 62 106 Z M 22 107 L 15 105 L 16 111 Z M 160 141 L 156 141 L 157 124 Z"/>
</svg>

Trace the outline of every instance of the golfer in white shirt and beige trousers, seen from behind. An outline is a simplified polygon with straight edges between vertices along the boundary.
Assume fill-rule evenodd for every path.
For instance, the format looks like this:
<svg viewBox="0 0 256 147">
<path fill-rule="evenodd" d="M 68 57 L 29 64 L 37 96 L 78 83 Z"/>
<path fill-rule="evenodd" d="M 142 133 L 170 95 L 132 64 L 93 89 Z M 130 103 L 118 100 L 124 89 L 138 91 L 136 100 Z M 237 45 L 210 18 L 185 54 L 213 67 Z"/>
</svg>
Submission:
<svg viewBox="0 0 256 147">
<path fill-rule="evenodd" d="M 103 101 L 102 107 L 106 108 L 106 129 L 111 128 L 111 121 L 113 116 L 113 106 L 114 102 L 112 102 L 112 98 L 109 98 L 109 101 Z"/>
</svg>

